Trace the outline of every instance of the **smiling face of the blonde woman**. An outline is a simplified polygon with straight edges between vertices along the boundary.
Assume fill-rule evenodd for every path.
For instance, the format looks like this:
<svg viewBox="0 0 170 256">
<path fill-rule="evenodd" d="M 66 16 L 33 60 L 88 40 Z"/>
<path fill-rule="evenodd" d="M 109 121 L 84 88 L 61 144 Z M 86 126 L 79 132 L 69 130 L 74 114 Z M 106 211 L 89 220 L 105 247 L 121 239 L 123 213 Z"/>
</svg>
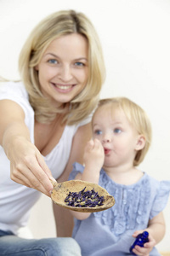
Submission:
<svg viewBox="0 0 170 256">
<path fill-rule="evenodd" d="M 70 102 L 88 81 L 88 41 L 72 33 L 54 39 L 36 67 L 42 94 L 58 103 Z"/>
</svg>

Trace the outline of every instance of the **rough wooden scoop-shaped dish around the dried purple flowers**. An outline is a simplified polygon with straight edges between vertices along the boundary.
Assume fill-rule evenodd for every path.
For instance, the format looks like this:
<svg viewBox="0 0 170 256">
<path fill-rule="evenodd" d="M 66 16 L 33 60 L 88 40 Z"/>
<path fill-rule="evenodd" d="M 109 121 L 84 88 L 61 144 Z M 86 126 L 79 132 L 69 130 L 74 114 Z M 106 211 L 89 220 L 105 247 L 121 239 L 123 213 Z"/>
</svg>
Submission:
<svg viewBox="0 0 170 256">
<path fill-rule="evenodd" d="M 54 189 L 51 194 L 51 199 L 54 201 L 55 204 L 59 205 L 60 207 L 65 207 L 72 211 L 76 212 L 100 212 L 104 211 L 108 208 L 111 208 L 115 204 L 115 199 L 112 195 L 110 195 L 107 190 L 100 187 L 98 184 L 95 183 L 88 183 L 82 180 L 70 180 L 63 183 L 55 183 L 51 181 L 54 186 Z M 99 196 L 104 196 L 104 204 L 99 207 L 70 207 L 67 206 L 65 203 L 65 197 L 69 194 L 69 192 L 80 192 L 82 189 L 86 187 L 86 190 L 94 189 L 95 192 L 98 192 Z"/>
</svg>

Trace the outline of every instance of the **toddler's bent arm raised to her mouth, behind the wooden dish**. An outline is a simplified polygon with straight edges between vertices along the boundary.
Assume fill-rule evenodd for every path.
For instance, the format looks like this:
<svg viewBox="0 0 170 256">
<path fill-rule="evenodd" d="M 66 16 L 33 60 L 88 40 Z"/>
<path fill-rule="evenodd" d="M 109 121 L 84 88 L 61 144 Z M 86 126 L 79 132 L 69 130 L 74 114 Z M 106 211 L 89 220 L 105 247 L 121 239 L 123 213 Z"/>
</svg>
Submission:
<svg viewBox="0 0 170 256">
<path fill-rule="evenodd" d="M 99 172 L 104 164 L 104 148 L 99 140 L 90 140 L 84 151 L 84 164 L 85 168 L 83 173 L 78 173 L 75 179 L 81 179 L 83 181 L 91 183 L 99 183 Z M 89 212 L 74 212 L 71 214 L 78 219 L 85 219 L 90 216 Z"/>
</svg>

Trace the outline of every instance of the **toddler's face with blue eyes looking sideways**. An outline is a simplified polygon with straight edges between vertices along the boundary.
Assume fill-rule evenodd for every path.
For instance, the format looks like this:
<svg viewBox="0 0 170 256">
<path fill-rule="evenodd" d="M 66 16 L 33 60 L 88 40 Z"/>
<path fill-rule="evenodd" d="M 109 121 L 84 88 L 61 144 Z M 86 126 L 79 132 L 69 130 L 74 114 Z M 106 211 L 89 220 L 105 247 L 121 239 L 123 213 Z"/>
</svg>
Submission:
<svg viewBox="0 0 170 256">
<path fill-rule="evenodd" d="M 109 104 L 100 107 L 94 114 L 93 134 L 104 147 L 104 167 L 118 167 L 131 162 L 133 166 L 139 133 L 130 125 L 122 109 L 111 109 Z"/>
</svg>

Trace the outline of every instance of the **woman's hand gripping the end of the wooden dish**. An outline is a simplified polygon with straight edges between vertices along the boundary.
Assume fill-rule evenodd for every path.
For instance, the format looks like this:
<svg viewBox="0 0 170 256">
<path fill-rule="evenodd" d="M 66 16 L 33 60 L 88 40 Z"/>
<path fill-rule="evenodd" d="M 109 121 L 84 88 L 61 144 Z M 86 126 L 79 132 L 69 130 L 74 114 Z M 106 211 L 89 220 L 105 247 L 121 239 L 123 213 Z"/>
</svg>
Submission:
<svg viewBox="0 0 170 256">
<path fill-rule="evenodd" d="M 24 137 L 14 138 L 8 149 L 8 159 L 10 160 L 10 177 L 14 182 L 50 196 L 53 185 L 49 179 L 54 180 L 54 178 L 35 145 Z"/>
</svg>

